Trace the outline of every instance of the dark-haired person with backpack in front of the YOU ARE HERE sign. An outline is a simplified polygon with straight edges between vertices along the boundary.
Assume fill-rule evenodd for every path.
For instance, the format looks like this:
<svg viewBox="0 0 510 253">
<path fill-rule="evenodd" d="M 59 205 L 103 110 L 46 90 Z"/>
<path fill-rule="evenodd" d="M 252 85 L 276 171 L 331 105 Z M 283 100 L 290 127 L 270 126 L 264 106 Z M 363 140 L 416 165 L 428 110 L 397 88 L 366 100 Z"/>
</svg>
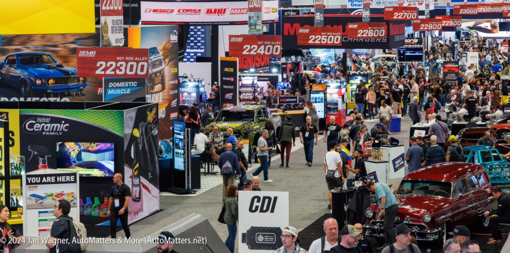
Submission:
<svg viewBox="0 0 510 253">
<path fill-rule="evenodd" d="M 69 244 L 63 243 L 67 239 L 71 241 L 71 224 L 69 216 L 71 203 L 67 200 L 59 200 L 53 207 L 53 215 L 57 217 L 53 221 L 52 231 L 49 234 L 49 240 L 46 243 L 49 253 L 70 253 Z M 57 240 L 58 239 L 58 240 Z"/>
</svg>

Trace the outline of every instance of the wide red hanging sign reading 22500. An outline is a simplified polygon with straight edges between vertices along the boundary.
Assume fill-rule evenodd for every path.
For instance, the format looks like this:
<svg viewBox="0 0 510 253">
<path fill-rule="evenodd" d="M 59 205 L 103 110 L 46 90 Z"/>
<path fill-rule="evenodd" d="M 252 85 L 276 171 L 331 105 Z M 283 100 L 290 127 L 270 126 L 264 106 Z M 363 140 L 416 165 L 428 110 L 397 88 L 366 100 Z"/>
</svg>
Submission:
<svg viewBox="0 0 510 253">
<path fill-rule="evenodd" d="M 342 26 L 299 27 L 297 44 L 300 46 L 340 46 L 342 44 Z"/>
</svg>

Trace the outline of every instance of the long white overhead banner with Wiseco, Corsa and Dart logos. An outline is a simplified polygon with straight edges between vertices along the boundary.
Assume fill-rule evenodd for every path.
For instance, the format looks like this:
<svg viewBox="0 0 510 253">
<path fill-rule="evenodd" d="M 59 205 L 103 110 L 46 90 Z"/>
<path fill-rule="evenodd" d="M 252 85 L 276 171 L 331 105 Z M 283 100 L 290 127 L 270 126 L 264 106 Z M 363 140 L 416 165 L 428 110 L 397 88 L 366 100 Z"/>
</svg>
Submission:
<svg viewBox="0 0 510 253">
<path fill-rule="evenodd" d="M 278 21 L 278 0 L 262 2 L 258 23 Z M 248 1 L 216 2 L 141 2 L 142 24 L 247 24 Z"/>
</svg>

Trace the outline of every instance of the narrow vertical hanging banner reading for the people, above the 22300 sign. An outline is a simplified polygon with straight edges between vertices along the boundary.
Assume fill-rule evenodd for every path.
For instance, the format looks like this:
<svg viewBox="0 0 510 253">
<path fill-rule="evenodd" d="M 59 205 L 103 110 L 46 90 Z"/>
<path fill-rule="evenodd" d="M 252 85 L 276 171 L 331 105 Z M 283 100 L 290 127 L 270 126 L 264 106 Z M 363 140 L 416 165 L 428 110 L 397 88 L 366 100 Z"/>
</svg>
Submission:
<svg viewBox="0 0 510 253">
<path fill-rule="evenodd" d="M 101 0 L 101 46 L 124 45 L 124 5 L 120 0 Z"/>
</svg>

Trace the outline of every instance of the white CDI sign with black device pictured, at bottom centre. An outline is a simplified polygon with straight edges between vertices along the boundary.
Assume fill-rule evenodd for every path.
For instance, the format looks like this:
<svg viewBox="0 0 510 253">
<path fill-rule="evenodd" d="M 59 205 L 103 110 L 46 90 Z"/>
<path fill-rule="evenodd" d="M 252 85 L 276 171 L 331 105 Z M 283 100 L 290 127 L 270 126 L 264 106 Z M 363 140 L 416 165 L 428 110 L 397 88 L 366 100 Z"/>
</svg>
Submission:
<svg viewBox="0 0 510 253">
<path fill-rule="evenodd" d="M 239 191 L 239 252 L 272 253 L 289 226 L 289 192 Z"/>
</svg>

